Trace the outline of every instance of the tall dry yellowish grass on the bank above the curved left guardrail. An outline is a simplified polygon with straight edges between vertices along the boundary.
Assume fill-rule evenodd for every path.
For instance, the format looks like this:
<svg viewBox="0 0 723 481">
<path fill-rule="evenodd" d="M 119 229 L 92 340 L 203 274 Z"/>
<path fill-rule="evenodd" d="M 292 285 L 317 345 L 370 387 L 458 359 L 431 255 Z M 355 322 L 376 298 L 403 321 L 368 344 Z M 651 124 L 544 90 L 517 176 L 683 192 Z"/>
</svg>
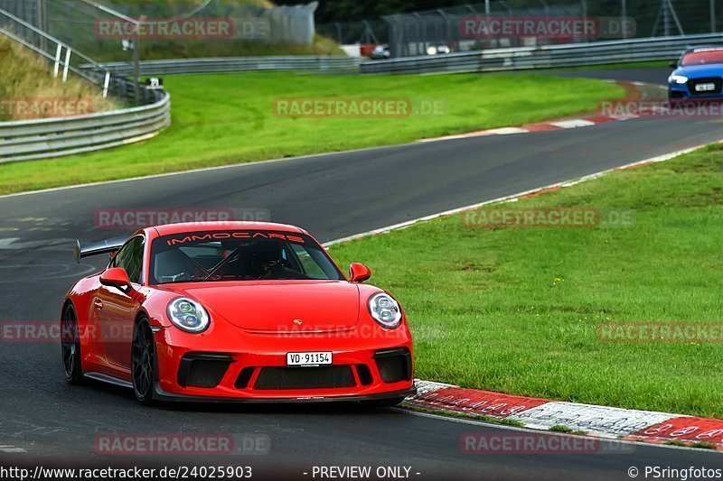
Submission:
<svg viewBox="0 0 723 481">
<path fill-rule="evenodd" d="M 49 65 L 32 51 L 25 49 L 8 37 L 0 35 L 0 120 L 46 118 L 58 116 L 60 109 L 33 111 L 22 117 L 12 105 L 23 101 L 33 104 L 40 100 L 61 102 L 65 106 L 81 101 L 92 112 L 117 108 L 114 101 L 105 99 L 99 88 L 85 80 L 69 78 L 63 83 L 54 79 Z"/>
</svg>

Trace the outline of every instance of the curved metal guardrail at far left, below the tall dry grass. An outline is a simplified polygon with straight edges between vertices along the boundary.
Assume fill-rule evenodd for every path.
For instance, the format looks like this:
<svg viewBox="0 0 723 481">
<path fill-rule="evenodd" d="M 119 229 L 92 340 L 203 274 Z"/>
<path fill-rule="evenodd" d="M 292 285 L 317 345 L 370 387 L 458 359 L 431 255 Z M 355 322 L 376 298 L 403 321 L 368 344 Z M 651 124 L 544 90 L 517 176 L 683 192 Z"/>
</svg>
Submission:
<svg viewBox="0 0 723 481">
<path fill-rule="evenodd" d="M 0 163 L 89 153 L 141 142 L 171 125 L 171 97 L 89 116 L 0 123 Z"/>
</svg>

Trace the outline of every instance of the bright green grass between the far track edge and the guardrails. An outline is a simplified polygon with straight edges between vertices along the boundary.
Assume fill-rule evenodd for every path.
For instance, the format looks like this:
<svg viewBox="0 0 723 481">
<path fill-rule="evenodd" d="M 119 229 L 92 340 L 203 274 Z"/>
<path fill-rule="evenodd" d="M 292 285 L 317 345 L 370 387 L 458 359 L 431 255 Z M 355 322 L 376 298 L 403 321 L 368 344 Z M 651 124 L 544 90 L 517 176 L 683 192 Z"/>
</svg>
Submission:
<svg viewBox="0 0 723 481">
<path fill-rule="evenodd" d="M 406 143 L 591 111 L 604 98 L 624 96 L 623 88 L 596 80 L 535 75 L 201 75 L 168 77 L 166 88 L 173 96 L 173 125 L 164 134 L 97 154 L 0 164 L 0 193 Z M 440 100 L 446 111 L 408 118 L 282 118 L 272 109 L 279 97 L 412 97 Z"/>
</svg>

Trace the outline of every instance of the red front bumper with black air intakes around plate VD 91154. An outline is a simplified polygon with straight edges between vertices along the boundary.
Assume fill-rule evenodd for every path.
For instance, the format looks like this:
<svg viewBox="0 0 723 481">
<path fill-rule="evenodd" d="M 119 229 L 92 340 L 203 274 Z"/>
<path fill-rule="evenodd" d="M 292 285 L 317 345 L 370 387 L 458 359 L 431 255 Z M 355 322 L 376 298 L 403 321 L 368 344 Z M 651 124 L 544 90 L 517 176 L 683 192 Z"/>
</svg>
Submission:
<svg viewBox="0 0 723 481">
<path fill-rule="evenodd" d="M 253 334 L 216 326 L 202 335 L 155 334 L 155 398 L 201 402 L 364 401 L 413 395 L 406 324 L 317 334 Z M 212 347 L 212 348 L 211 348 Z M 287 367 L 286 354 L 333 353 L 333 365 Z"/>
</svg>

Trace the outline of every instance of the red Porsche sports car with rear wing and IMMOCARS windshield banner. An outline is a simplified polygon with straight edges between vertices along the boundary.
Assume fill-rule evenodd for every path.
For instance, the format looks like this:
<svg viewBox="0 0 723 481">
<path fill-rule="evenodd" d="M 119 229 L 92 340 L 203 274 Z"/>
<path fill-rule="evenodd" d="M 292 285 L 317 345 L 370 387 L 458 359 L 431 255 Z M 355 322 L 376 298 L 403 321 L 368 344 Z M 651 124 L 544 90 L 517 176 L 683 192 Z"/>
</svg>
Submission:
<svg viewBox="0 0 723 481">
<path fill-rule="evenodd" d="M 132 387 L 138 401 L 361 401 L 415 393 L 412 340 L 399 303 L 347 280 L 298 227 L 177 224 L 76 246 L 111 254 L 62 306 L 70 384 Z"/>
</svg>

